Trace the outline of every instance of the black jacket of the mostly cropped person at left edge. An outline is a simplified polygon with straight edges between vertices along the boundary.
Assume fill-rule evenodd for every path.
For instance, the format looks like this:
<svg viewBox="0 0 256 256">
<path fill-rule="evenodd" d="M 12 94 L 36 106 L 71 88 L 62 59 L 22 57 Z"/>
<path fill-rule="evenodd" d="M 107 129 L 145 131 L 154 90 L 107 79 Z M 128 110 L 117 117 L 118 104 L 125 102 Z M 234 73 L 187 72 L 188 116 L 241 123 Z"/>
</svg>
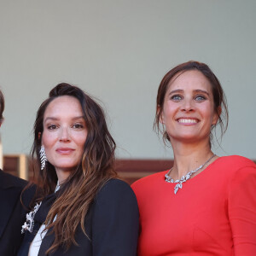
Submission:
<svg viewBox="0 0 256 256">
<path fill-rule="evenodd" d="M 0 170 L 0 255 L 16 255 L 20 243 L 21 225 L 25 209 L 20 203 L 20 192 L 26 181 Z"/>
</svg>

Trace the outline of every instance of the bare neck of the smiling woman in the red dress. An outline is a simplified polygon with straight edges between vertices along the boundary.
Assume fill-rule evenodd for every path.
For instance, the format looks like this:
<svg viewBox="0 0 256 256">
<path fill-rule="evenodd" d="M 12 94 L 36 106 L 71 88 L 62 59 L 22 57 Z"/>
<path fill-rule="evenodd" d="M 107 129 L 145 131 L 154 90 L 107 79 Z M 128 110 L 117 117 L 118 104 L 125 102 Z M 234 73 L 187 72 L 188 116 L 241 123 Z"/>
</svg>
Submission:
<svg viewBox="0 0 256 256">
<path fill-rule="evenodd" d="M 203 165 L 213 154 L 208 142 L 203 144 L 172 143 L 172 148 L 174 165 L 171 176 L 173 179 L 179 179 L 188 172 L 195 170 Z M 200 172 L 206 167 L 204 166 Z"/>
</svg>

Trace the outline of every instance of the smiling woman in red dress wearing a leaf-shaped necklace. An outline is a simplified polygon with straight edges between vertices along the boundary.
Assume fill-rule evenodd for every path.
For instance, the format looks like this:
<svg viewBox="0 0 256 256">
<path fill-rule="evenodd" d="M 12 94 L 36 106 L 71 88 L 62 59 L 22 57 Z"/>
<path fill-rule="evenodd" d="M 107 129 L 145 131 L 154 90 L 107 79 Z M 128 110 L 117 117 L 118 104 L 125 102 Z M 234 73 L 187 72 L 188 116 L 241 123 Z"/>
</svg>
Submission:
<svg viewBox="0 0 256 256">
<path fill-rule="evenodd" d="M 224 91 L 204 63 L 172 68 L 160 83 L 154 128 L 171 143 L 170 170 L 132 184 L 140 212 L 138 256 L 256 255 L 256 166 L 214 154 L 228 125 Z"/>
</svg>

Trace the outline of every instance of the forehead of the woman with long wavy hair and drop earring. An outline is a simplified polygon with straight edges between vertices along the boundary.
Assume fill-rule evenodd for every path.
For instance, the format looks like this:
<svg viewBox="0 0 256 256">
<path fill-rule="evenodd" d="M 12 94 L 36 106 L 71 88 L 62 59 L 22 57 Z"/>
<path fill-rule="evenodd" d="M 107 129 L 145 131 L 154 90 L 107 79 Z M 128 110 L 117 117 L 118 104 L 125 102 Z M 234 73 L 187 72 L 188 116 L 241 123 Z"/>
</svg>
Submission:
<svg viewBox="0 0 256 256">
<path fill-rule="evenodd" d="M 73 96 L 59 96 L 45 109 L 44 119 L 48 116 L 83 115 L 80 102 Z"/>
</svg>

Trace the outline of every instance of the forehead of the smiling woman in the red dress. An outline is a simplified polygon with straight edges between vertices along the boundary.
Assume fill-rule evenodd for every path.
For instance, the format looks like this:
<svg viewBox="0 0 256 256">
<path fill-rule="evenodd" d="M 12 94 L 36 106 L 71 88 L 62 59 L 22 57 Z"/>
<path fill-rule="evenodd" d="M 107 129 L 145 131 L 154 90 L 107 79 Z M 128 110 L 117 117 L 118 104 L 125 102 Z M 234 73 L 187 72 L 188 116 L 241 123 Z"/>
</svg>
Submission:
<svg viewBox="0 0 256 256">
<path fill-rule="evenodd" d="M 189 70 L 177 73 L 168 84 L 167 90 L 207 90 L 212 91 L 212 84 L 203 73 L 198 70 Z"/>
</svg>

